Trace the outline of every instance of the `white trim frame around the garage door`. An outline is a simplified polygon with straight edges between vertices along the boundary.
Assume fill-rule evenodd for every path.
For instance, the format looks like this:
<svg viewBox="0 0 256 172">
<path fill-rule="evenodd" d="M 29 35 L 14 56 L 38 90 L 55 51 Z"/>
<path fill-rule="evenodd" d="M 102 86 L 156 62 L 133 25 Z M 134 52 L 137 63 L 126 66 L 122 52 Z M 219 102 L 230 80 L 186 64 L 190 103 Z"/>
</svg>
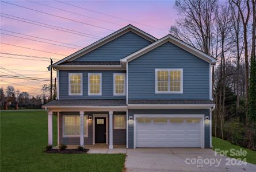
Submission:
<svg viewBox="0 0 256 172">
<path fill-rule="evenodd" d="M 134 114 L 133 115 L 133 148 L 136 148 L 136 118 L 201 118 L 201 148 L 204 148 L 204 114 Z"/>
</svg>

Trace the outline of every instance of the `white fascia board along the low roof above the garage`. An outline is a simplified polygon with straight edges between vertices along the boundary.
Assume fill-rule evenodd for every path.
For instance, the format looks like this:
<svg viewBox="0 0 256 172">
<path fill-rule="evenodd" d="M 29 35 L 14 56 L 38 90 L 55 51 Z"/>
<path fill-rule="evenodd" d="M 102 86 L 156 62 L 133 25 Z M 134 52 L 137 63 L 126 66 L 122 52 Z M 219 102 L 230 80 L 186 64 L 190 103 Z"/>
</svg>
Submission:
<svg viewBox="0 0 256 172">
<path fill-rule="evenodd" d="M 209 109 L 215 104 L 128 104 L 128 109 Z"/>
</svg>

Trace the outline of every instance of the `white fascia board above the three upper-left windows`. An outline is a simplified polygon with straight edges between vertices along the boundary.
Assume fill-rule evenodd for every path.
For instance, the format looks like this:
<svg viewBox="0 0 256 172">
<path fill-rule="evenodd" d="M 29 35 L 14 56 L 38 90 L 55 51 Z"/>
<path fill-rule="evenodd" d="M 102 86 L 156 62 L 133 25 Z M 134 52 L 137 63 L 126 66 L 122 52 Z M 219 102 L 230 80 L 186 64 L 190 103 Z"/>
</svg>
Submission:
<svg viewBox="0 0 256 172">
<path fill-rule="evenodd" d="M 63 70 L 77 70 L 77 69 L 86 69 L 86 70 L 118 70 L 125 71 L 125 67 L 121 65 L 53 65 L 54 69 L 63 69 Z"/>
</svg>

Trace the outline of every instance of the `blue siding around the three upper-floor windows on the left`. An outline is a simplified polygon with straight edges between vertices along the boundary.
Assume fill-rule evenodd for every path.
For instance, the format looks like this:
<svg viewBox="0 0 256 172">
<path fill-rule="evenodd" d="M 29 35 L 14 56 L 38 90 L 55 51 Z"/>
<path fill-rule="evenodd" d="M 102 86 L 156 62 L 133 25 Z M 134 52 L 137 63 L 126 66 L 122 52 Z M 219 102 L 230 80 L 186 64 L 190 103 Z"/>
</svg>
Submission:
<svg viewBox="0 0 256 172">
<path fill-rule="evenodd" d="M 83 95 L 68 96 L 68 73 L 83 73 Z M 88 73 L 102 73 L 102 95 L 88 96 Z M 125 73 L 125 71 L 59 71 L 59 99 L 125 99 L 126 96 L 113 96 L 113 73 Z"/>
</svg>

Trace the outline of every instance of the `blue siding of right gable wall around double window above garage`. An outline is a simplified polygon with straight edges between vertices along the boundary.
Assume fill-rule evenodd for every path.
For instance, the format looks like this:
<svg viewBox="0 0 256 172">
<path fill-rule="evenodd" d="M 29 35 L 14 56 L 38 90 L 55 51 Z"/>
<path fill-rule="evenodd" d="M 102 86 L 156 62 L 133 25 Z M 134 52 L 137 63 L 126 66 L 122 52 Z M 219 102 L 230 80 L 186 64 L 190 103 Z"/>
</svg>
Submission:
<svg viewBox="0 0 256 172">
<path fill-rule="evenodd" d="M 183 93 L 155 93 L 156 68 L 182 68 Z M 129 100 L 208 100 L 209 63 L 167 42 L 128 64 Z"/>
</svg>

